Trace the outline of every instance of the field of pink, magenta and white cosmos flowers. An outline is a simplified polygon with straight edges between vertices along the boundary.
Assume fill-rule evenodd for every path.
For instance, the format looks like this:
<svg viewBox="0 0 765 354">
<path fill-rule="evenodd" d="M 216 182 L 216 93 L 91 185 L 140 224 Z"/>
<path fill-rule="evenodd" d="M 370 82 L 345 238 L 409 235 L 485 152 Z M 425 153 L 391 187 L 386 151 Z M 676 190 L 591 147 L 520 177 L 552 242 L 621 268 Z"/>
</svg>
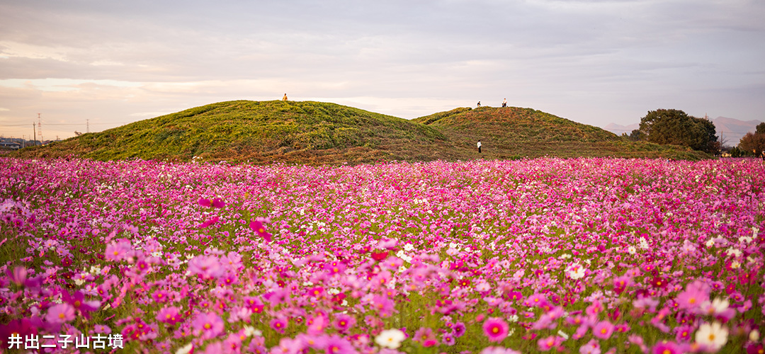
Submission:
<svg viewBox="0 0 765 354">
<path fill-rule="evenodd" d="M 763 353 L 754 159 L 0 171 L 4 352 Z"/>
</svg>

